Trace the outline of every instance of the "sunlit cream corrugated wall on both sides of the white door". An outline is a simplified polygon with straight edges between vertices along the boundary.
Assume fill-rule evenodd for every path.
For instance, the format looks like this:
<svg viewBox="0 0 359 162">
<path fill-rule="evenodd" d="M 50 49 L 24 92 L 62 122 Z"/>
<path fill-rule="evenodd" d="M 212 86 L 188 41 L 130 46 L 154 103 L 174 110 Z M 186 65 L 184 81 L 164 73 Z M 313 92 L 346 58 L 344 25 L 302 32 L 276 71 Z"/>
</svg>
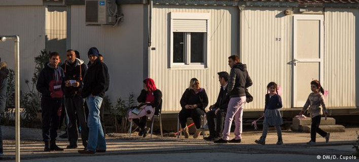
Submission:
<svg viewBox="0 0 359 162">
<path fill-rule="evenodd" d="M 284 10 L 245 8 L 241 12 L 241 58 L 252 76 L 254 86 L 249 91 L 255 99 L 246 109 L 263 109 L 266 85 L 271 81 L 282 88 L 283 107 L 292 106 L 292 65 L 288 63 L 293 58 L 293 17 L 285 16 Z M 328 107 L 356 105 L 355 30 L 358 25 L 355 20 L 358 13 L 355 9 L 326 9 L 325 12 L 325 80 L 322 85 L 329 91 Z"/>
</svg>

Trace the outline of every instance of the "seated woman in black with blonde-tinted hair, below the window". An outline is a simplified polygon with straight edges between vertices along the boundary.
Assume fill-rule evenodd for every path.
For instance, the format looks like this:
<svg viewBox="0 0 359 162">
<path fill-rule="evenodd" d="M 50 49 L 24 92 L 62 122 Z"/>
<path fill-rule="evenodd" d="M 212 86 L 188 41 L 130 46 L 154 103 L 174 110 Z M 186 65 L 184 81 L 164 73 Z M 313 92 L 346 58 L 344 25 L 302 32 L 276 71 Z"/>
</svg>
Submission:
<svg viewBox="0 0 359 162">
<path fill-rule="evenodd" d="M 183 93 L 180 103 L 182 110 L 178 114 L 178 117 L 180 118 L 181 128 L 185 133 L 185 138 L 188 138 L 190 135 L 186 126 L 188 117 L 191 117 L 195 123 L 196 132 L 193 138 L 197 138 L 201 133 L 201 115 L 205 113 L 204 109 L 208 105 L 206 91 L 200 87 L 197 78 L 191 79 L 190 87 Z"/>
</svg>

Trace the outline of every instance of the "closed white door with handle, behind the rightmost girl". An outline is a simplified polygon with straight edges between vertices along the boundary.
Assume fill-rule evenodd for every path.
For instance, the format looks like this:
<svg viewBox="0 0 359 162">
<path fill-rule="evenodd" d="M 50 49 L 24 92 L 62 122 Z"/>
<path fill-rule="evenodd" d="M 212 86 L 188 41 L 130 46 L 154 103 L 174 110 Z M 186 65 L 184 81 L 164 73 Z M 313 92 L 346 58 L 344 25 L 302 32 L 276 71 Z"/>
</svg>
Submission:
<svg viewBox="0 0 359 162">
<path fill-rule="evenodd" d="M 324 78 L 324 16 L 294 15 L 293 107 L 303 107 L 310 82 Z"/>
</svg>

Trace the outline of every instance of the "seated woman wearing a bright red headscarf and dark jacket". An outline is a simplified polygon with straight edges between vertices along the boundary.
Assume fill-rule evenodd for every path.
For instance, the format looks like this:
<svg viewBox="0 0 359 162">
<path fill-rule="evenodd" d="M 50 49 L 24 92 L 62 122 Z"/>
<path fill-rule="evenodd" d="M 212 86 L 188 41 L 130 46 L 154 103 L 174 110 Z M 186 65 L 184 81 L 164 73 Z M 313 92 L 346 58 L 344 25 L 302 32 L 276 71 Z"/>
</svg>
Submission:
<svg viewBox="0 0 359 162">
<path fill-rule="evenodd" d="M 132 120 L 139 128 L 139 136 L 146 137 L 150 128 L 146 127 L 147 118 L 151 119 L 162 101 L 162 92 L 156 88 L 155 81 L 152 78 L 143 80 L 143 90 L 138 96 L 137 101 L 140 105 L 136 110 L 128 113 L 128 120 Z"/>
</svg>

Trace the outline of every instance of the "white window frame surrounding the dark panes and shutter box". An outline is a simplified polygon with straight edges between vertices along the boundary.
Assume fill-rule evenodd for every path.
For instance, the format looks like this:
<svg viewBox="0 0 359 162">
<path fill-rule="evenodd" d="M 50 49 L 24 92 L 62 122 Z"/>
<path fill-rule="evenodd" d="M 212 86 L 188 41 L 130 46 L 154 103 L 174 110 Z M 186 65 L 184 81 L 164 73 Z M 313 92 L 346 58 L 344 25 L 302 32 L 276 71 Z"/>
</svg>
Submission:
<svg viewBox="0 0 359 162">
<path fill-rule="evenodd" d="M 210 13 L 177 13 L 171 12 L 170 13 L 170 69 L 207 69 L 209 63 L 209 49 L 208 49 L 208 33 L 209 33 L 209 25 L 210 24 Z M 173 21 L 176 19 L 183 19 L 183 20 L 206 20 L 207 26 L 206 32 L 204 34 L 203 40 L 203 63 L 191 63 L 191 32 L 198 32 L 198 31 L 181 31 L 185 33 L 185 62 L 184 63 L 174 63 L 173 62 Z"/>
</svg>

